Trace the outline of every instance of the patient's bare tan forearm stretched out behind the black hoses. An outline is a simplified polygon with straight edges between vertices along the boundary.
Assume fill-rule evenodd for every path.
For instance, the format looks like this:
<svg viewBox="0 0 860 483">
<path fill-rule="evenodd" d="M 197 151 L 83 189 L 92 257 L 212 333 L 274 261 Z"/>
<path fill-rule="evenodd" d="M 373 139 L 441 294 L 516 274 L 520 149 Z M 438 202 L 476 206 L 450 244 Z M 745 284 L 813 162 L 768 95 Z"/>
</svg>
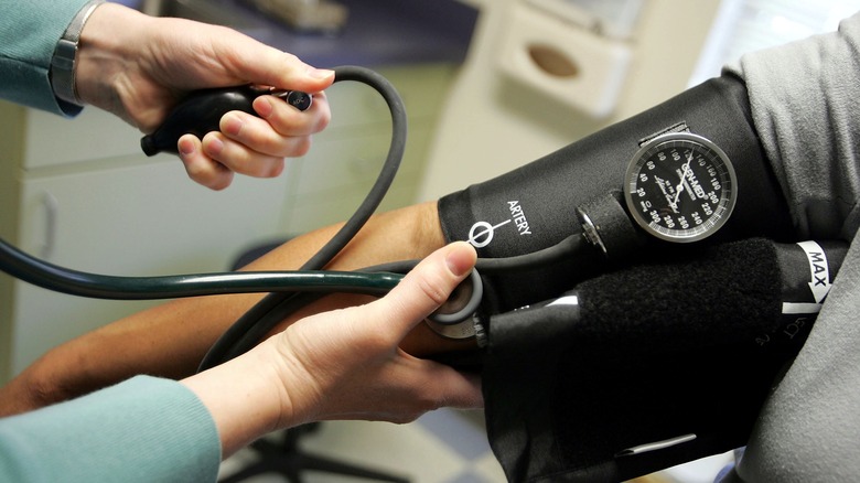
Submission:
<svg viewBox="0 0 860 483">
<path fill-rule="evenodd" d="M 337 226 L 299 236 L 245 269 L 297 269 Z M 423 258 L 444 245 L 436 202 L 374 216 L 329 265 L 351 270 L 385 261 Z M 136 313 L 62 344 L 0 388 L 0 416 L 23 412 L 109 386 L 137 374 L 182 378 L 193 374 L 221 334 L 262 296 L 180 299 Z M 367 296 L 333 294 L 293 314 L 302 316 L 366 303 Z M 413 355 L 467 348 L 472 341 L 444 340 L 420 324 L 401 345 Z"/>
</svg>

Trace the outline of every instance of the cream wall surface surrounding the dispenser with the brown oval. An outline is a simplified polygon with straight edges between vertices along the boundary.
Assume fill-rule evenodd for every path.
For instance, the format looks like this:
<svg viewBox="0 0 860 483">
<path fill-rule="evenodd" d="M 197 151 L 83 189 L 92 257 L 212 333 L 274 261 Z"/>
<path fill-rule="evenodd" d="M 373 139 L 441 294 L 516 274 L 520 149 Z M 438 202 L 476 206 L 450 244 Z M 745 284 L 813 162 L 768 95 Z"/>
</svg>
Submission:
<svg viewBox="0 0 860 483">
<path fill-rule="evenodd" d="M 614 111 L 594 119 L 499 75 L 508 13 L 523 0 L 476 1 L 481 15 L 466 64 L 448 98 L 417 201 L 507 172 L 687 87 L 719 0 L 646 0 Z"/>
</svg>

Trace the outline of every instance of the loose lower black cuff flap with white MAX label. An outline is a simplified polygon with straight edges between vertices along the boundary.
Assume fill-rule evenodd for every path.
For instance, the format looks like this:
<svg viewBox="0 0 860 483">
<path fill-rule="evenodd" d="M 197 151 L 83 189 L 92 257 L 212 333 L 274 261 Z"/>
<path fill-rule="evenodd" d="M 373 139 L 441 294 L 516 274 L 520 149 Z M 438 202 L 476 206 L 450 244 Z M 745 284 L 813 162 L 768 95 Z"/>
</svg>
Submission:
<svg viewBox="0 0 860 483">
<path fill-rule="evenodd" d="M 810 247 L 762 238 L 655 256 L 486 321 L 508 479 L 622 481 L 743 446 L 811 328 L 810 276 L 832 280 L 847 251 L 815 246 L 815 266 Z"/>
</svg>

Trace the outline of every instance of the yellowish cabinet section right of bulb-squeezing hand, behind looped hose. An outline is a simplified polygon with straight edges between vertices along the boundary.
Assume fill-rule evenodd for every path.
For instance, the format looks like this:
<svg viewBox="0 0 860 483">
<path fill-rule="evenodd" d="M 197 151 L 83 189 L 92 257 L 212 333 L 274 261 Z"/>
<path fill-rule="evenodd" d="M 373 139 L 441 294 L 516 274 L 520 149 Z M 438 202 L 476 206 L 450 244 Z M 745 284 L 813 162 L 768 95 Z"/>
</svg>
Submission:
<svg viewBox="0 0 860 483">
<path fill-rule="evenodd" d="M 398 90 L 409 117 L 408 141 L 400 170 L 379 211 L 416 203 L 449 87 L 456 75 L 450 64 L 378 69 Z M 329 128 L 314 138 L 311 151 L 290 164 L 295 189 L 289 191 L 283 223 L 291 233 L 348 218 L 376 181 L 391 139 L 390 114 L 372 88 L 335 84 L 327 93 Z"/>
</svg>

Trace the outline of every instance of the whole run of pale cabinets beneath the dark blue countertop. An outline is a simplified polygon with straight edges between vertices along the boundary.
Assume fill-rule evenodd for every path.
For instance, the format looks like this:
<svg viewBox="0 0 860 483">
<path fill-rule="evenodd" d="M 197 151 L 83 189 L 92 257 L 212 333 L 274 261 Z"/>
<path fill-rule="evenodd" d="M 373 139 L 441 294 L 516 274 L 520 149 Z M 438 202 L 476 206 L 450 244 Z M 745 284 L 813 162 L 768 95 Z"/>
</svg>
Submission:
<svg viewBox="0 0 860 483">
<path fill-rule="evenodd" d="M 410 116 L 407 159 L 385 207 L 413 202 L 449 65 L 380 69 Z M 83 271 L 155 276 L 223 271 L 244 248 L 348 217 L 390 139 L 387 108 L 354 83 L 329 95 L 333 120 L 275 180 L 236 176 L 213 192 L 171 155 L 147 158 L 140 133 L 85 109 L 75 120 L 0 104 L 0 236 Z M 0 383 L 50 347 L 151 303 L 83 299 L 0 272 Z"/>
</svg>

